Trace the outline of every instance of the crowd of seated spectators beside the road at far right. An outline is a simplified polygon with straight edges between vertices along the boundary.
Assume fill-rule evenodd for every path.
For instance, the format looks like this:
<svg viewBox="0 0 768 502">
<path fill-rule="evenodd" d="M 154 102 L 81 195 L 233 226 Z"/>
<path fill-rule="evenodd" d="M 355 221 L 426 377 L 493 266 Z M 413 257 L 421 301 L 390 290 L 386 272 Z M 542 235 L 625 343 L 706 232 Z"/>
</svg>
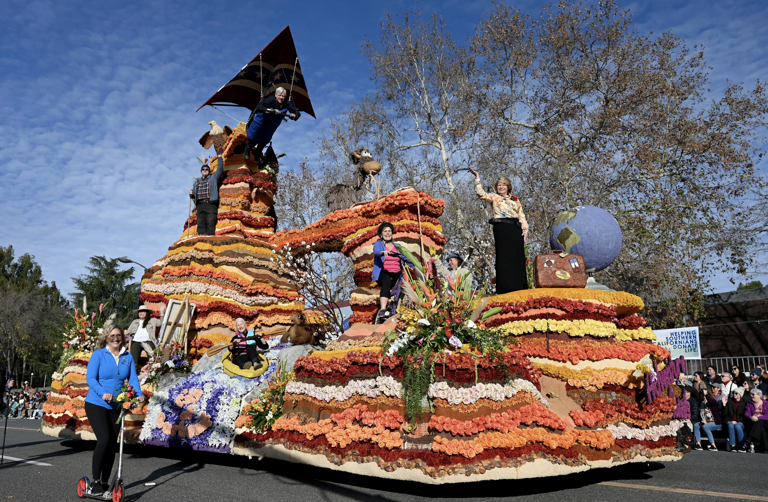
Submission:
<svg viewBox="0 0 768 502">
<path fill-rule="evenodd" d="M 717 451 L 714 432 L 723 431 L 726 451 L 768 453 L 768 373 L 758 366 L 742 373 L 738 366 L 718 373 L 713 366 L 678 384 L 691 405 L 695 450 Z M 702 434 L 706 447 L 702 446 Z"/>
</svg>

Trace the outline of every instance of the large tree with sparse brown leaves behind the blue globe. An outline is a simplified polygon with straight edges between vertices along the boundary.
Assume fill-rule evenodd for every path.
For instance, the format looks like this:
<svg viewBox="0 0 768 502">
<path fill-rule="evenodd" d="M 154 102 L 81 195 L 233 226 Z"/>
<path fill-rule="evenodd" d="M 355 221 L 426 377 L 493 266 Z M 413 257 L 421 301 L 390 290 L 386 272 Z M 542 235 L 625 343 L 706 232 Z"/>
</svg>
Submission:
<svg viewBox="0 0 768 502">
<path fill-rule="evenodd" d="M 710 101 L 703 51 L 638 34 L 611 0 L 560 2 L 539 19 L 498 5 L 473 47 L 490 131 L 479 150 L 497 153 L 482 167 L 514 165 L 535 247 L 562 209 L 602 207 L 625 243 L 603 280 L 658 306 L 660 324 L 696 315 L 708 275 L 741 270 L 747 237 L 727 230 L 763 186 L 763 84 Z"/>
</svg>

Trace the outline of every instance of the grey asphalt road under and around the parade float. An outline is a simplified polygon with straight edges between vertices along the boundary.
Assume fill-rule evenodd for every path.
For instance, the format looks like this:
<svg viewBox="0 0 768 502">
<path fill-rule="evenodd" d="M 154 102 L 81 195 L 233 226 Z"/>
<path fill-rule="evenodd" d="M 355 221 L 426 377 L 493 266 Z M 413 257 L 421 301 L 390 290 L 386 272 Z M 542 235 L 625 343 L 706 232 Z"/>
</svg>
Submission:
<svg viewBox="0 0 768 502">
<path fill-rule="evenodd" d="M 8 421 L 6 458 L 0 465 L 0 502 L 79 500 L 77 481 L 90 474 L 94 443 L 51 438 L 38 432 L 39 427 L 39 420 Z M 557 478 L 445 486 L 340 474 L 270 459 L 147 446 L 127 447 L 124 463 L 125 500 L 141 502 L 768 502 L 768 455 L 725 451 L 694 451 L 679 462 L 633 464 Z"/>
</svg>

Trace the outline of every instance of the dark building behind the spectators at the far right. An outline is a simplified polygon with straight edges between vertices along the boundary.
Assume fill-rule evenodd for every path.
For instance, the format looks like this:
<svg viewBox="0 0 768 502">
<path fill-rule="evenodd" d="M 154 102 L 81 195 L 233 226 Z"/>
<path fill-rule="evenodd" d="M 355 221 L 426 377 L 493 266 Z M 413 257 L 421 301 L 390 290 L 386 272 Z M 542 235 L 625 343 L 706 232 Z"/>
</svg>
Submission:
<svg viewBox="0 0 768 502">
<path fill-rule="evenodd" d="M 707 296 L 699 326 L 702 358 L 768 354 L 768 287 Z"/>
</svg>

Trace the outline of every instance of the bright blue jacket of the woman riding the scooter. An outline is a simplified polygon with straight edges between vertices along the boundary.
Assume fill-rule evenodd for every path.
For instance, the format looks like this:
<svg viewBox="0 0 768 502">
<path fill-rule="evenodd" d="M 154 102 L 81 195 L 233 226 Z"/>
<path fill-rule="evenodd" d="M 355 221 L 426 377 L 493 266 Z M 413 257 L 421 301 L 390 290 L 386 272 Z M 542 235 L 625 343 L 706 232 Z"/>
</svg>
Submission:
<svg viewBox="0 0 768 502">
<path fill-rule="evenodd" d="M 85 398 L 86 403 L 95 404 L 102 408 L 117 409 L 115 399 L 120 394 L 123 382 L 128 380 L 128 384 L 133 386 L 137 396 L 143 396 L 141 393 L 141 384 L 136 376 L 136 365 L 133 363 L 133 357 L 128 351 L 118 356 L 118 364 L 115 364 L 115 356 L 104 347 L 93 352 L 91 360 L 88 361 L 88 372 L 86 381 L 88 382 L 88 395 Z M 113 399 L 109 403 L 104 401 L 101 396 L 112 394 Z"/>
</svg>

